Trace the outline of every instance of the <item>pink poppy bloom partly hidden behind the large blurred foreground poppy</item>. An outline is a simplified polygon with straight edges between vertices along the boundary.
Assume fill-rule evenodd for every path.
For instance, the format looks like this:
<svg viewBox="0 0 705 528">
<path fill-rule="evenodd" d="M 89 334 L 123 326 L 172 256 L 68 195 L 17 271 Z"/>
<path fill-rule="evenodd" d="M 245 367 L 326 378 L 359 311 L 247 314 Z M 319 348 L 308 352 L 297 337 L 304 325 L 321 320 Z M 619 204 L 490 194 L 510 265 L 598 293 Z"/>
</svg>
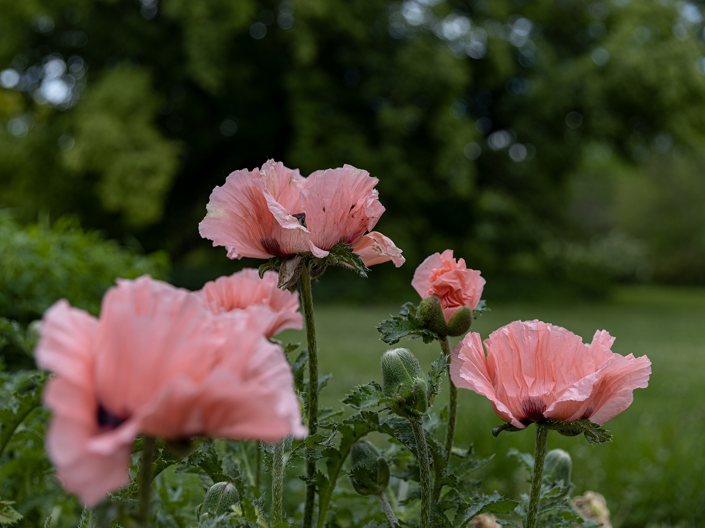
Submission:
<svg viewBox="0 0 705 528">
<path fill-rule="evenodd" d="M 256 269 L 245 268 L 229 277 L 219 277 L 195 292 L 212 312 L 218 314 L 238 309 L 255 309 L 257 317 L 266 321 L 264 335 L 271 338 L 286 330 L 303 328 L 297 293 L 276 287 L 278 274 L 267 271 L 259 278 Z"/>
</svg>

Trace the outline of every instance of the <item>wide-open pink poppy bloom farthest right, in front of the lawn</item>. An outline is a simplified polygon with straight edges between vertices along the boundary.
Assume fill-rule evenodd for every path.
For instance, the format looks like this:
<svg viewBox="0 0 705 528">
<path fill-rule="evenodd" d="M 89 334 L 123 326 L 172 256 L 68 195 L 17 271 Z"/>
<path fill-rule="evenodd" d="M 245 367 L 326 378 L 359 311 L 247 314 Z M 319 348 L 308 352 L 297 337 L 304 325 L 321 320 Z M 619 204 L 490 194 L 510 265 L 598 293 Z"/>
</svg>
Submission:
<svg viewBox="0 0 705 528">
<path fill-rule="evenodd" d="M 544 418 L 601 425 L 631 405 L 651 374 L 648 357 L 615 354 L 613 342 L 604 330 L 586 345 L 560 326 L 514 321 L 484 340 L 486 357 L 479 333 L 469 333 L 453 348 L 450 376 L 520 429 Z"/>
</svg>

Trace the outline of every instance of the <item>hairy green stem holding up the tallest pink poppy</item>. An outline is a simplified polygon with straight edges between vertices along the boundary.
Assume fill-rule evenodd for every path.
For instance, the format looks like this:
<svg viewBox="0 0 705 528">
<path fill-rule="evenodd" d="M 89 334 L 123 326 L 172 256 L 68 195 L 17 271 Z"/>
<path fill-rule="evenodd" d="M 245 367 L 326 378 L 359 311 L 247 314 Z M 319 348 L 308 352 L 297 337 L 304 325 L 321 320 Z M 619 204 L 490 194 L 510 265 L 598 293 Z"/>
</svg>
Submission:
<svg viewBox="0 0 705 528">
<path fill-rule="evenodd" d="M 300 277 L 301 304 L 306 321 L 306 340 L 309 354 L 309 401 L 308 426 L 309 434 L 314 434 L 318 426 L 318 355 L 316 351 L 316 325 L 313 319 L 313 297 L 311 295 L 311 274 L 309 264 L 305 263 Z M 306 453 L 306 498 L 304 502 L 303 528 L 311 528 L 313 507 L 316 501 L 316 460 L 312 453 Z"/>
</svg>

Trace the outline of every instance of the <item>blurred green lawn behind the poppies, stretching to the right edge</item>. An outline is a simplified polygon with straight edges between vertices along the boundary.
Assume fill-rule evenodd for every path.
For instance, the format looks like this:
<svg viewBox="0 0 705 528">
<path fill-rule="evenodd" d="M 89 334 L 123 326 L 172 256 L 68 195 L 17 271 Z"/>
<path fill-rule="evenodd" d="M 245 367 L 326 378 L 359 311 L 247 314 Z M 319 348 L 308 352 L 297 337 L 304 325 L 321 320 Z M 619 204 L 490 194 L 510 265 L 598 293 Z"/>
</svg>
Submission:
<svg viewBox="0 0 705 528">
<path fill-rule="evenodd" d="M 314 290 L 315 297 L 315 290 Z M 415 300 L 411 293 L 410 300 Z M 607 329 L 617 340 L 613 351 L 648 355 L 653 363 L 649 388 L 637 389 L 632 406 L 606 424 L 614 442 L 591 446 L 584 437 L 552 433 L 549 448 L 569 450 L 573 458 L 576 493 L 603 493 L 615 527 L 700 526 L 705 519 L 705 290 L 630 287 L 610 302 L 494 304 L 474 322 L 485 338 L 516 319 L 541 319 L 564 326 L 591 340 Z M 345 393 L 369 379 L 381 381 L 379 356 L 386 345 L 375 326 L 394 306 L 316 307 L 321 374 L 333 379 L 321 395 L 323 405 L 341 406 Z M 302 332 L 288 331 L 285 341 L 305 341 Z M 429 365 L 439 348 L 407 340 L 400 345 Z M 446 405 L 442 391 L 434 407 Z M 491 435 L 501 423 L 489 400 L 460 390 L 457 443 L 474 443 L 477 454 L 495 459 L 483 470 L 486 491 L 515 495 L 527 488 L 525 475 L 506 457 L 511 447 L 533 449 L 534 429 Z"/>
</svg>

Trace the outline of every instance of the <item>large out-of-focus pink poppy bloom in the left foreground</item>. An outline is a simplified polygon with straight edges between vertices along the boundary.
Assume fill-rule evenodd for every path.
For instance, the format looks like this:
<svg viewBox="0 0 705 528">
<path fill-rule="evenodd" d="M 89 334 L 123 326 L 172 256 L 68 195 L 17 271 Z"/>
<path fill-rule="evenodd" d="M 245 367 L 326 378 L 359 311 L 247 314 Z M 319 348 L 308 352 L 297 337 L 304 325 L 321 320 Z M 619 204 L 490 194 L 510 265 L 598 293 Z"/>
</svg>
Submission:
<svg viewBox="0 0 705 528">
<path fill-rule="evenodd" d="M 87 505 L 129 483 L 139 434 L 305 434 L 288 362 L 247 312 L 215 316 L 187 290 L 142 276 L 118 279 L 99 319 L 56 302 L 41 335 L 37 364 L 55 373 L 47 452 Z"/>
</svg>

